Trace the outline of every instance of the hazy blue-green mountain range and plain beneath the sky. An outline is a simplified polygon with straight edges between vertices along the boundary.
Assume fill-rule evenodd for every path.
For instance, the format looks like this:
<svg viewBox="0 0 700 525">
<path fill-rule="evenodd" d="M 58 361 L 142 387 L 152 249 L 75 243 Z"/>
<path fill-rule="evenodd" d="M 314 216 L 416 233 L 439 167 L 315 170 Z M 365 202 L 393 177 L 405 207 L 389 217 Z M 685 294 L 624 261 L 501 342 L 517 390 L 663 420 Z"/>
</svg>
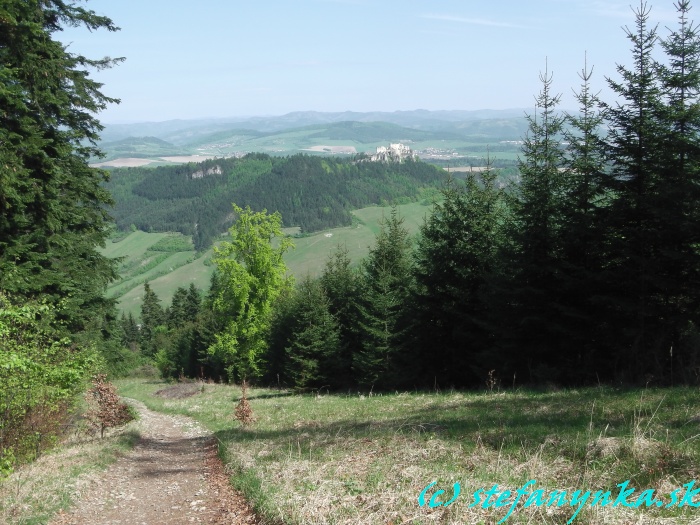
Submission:
<svg viewBox="0 0 700 525">
<path fill-rule="evenodd" d="M 110 124 L 102 132 L 100 147 L 106 153 L 105 160 L 141 158 L 158 163 L 185 162 L 193 155 L 223 157 L 250 152 L 362 153 L 395 142 L 406 143 L 423 158 L 483 157 L 488 149 L 504 152 L 504 158 L 510 159 L 517 150 L 512 142 L 521 139 L 526 130 L 522 109 L 305 111 L 278 117 Z"/>
</svg>

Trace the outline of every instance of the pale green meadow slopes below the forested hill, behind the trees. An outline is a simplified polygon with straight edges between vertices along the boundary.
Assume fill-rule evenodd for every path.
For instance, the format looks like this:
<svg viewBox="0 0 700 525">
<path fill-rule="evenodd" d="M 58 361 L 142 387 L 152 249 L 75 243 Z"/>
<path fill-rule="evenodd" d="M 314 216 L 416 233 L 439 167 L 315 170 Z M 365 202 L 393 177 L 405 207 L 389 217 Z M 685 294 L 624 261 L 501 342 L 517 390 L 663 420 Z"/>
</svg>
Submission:
<svg viewBox="0 0 700 525">
<path fill-rule="evenodd" d="M 404 204 L 398 207 L 404 217 L 404 224 L 411 234 L 418 232 L 423 218 L 430 213 L 430 206 L 419 203 Z M 297 278 L 309 274 L 317 276 L 323 271 L 328 256 L 338 247 L 348 249 L 350 258 L 357 262 L 367 255 L 379 232 L 382 216 L 388 216 L 391 208 L 373 206 L 356 210 L 353 213 L 356 224 L 345 228 L 334 228 L 324 232 L 294 239 L 296 248 L 287 253 L 285 261 L 289 271 Z M 143 283 L 147 280 L 153 291 L 169 305 L 179 286 L 190 283 L 201 290 L 209 288 L 214 266 L 210 263 L 213 251 L 210 249 L 195 258 L 194 250 L 180 252 L 154 251 L 156 243 L 173 234 L 145 233 L 136 231 L 119 242 L 108 242 L 103 253 L 108 257 L 122 257 L 120 275 L 122 278 L 107 290 L 110 297 L 119 301 L 119 308 L 133 315 L 139 315 L 143 297 Z"/>
</svg>

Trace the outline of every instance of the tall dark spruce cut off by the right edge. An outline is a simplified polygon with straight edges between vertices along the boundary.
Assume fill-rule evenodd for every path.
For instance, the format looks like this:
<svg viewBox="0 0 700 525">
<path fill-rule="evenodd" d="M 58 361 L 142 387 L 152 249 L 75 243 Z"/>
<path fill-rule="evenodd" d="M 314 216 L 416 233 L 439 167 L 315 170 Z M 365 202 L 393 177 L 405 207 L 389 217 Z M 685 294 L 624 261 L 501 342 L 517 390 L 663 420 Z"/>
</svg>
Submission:
<svg viewBox="0 0 700 525">
<path fill-rule="evenodd" d="M 663 268 L 656 276 L 661 279 L 656 301 L 664 310 L 667 340 L 659 350 L 666 354 L 669 347 L 668 360 L 663 360 L 669 365 L 667 378 L 674 368 L 684 371 L 698 365 L 689 340 L 700 322 L 700 34 L 688 19 L 690 1 L 679 0 L 675 6 L 678 25 L 661 41 L 667 60 L 657 66 L 666 102 L 662 113 L 666 134 L 658 153 L 663 159 L 658 250 Z M 680 366 L 674 367 L 671 360 Z"/>
</svg>

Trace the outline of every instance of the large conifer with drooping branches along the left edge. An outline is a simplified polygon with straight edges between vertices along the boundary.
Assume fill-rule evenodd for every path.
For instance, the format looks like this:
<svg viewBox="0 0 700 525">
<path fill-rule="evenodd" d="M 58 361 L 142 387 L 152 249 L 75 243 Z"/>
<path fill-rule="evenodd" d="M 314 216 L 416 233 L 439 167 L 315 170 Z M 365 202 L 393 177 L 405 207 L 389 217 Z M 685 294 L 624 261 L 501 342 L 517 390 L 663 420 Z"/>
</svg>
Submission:
<svg viewBox="0 0 700 525">
<path fill-rule="evenodd" d="M 0 5 L 0 289 L 61 303 L 57 315 L 77 332 L 105 315 L 115 277 L 96 250 L 108 232 L 107 175 L 88 159 L 99 153 L 94 113 L 116 100 L 87 71 L 115 61 L 69 53 L 52 38 L 66 25 L 117 29 L 62 1 Z"/>
</svg>

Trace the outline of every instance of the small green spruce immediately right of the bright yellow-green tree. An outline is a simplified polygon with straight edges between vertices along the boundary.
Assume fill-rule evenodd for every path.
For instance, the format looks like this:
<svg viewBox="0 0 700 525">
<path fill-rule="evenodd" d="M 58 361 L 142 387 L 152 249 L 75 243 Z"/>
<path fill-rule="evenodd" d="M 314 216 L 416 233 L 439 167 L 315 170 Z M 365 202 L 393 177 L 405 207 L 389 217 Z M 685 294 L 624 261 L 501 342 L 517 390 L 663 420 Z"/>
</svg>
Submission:
<svg viewBox="0 0 700 525">
<path fill-rule="evenodd" d="M 342 379 L 332 373 L 340 330 L 321 282 L 306 277 L 295 291 L 294 300 L 291 334 L 285 348 L 286 376 L 298 388 L 335 387 Z"/>
</svg>

